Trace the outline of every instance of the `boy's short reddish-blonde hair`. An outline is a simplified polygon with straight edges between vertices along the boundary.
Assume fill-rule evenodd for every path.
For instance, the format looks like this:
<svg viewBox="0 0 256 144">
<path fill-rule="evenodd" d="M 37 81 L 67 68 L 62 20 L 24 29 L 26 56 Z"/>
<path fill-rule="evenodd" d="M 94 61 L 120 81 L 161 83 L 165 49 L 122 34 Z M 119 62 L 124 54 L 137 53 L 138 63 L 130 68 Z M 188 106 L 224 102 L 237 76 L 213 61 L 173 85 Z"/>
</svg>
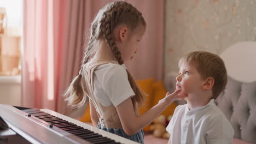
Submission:
<svg viewBox="0 0 256 144">
<path fill-rule="evenodd" d="M 214 79 L 212 88 L 214 99 L 216 99 L 225 88 L 228 75 L 226 74 L 225 64 L 218 55 L 206 51 L 194 51 L 181 58 L 179 64 L 181 62 L 187 62 L 193 65 L 203 80 L 206 80 L 208 77 Z"/>
</svg>

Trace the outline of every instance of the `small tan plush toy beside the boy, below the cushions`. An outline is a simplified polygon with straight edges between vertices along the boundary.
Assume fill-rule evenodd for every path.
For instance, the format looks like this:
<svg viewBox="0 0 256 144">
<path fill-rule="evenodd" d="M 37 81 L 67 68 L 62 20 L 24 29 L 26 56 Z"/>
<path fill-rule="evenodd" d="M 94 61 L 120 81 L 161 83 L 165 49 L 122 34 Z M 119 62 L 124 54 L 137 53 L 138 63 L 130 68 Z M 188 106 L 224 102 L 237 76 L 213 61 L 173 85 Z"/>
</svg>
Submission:
<svg viewBox="0 0 256 144">
<path fill-rule="evenodd" d="M 150 130 L 153 131 L 154 136 L 169 139 L 170 134 L 166 131 L 166 126 L 168 122 L 170 122 L 171 117 L 172 115 L 168 116 L 168 118 L 164 115 L 160 115 L 153 121 L 153 124 L 150 125 Z"/>
</svg>

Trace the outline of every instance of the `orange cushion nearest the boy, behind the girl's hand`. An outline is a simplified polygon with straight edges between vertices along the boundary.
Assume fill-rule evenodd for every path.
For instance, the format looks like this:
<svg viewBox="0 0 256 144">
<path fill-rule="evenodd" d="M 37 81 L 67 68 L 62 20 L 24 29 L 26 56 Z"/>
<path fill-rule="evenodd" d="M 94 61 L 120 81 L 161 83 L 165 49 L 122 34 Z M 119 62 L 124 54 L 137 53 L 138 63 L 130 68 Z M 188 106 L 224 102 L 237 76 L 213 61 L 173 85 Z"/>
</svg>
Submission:
<svg viewBox="0 0 256 144">
<path fill-rule="evenodd" d="M 166 95 L 166 89 L 164 87 L 164 84 L 162 83 L 162 80 L 159 80 L 158 82 L 153 83 L 153 105 L 158 104 L 158 101 L 161 100 L 162 98 L 165 97 Z M 172 92 L 170 92 L 172 93 Z M 166 117 L 173 115 L 173 112 L 176 108 L 176 104 L 173 102 L 172 104 L 170 104 L 161 114 L 165 115 Z"/>
</svg>

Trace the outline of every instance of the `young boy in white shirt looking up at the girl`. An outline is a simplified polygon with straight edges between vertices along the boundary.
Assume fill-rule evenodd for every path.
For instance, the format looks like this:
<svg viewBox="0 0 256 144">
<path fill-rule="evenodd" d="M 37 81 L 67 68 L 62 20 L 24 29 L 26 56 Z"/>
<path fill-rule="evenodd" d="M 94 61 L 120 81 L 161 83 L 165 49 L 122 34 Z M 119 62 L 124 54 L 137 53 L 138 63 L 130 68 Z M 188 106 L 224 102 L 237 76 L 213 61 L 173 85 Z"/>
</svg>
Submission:
<svg viewBox="0 0 256 144">
<path fill-rule="evenodd" d="M 210 52 L 191 52 L 179 60 L 176 80 L 176 89 L 188 97 L 166 128 L 168 143 L 232 143 L 234 129 L 214 104 L 227 82 L 223 60 Z"/>
</svg>

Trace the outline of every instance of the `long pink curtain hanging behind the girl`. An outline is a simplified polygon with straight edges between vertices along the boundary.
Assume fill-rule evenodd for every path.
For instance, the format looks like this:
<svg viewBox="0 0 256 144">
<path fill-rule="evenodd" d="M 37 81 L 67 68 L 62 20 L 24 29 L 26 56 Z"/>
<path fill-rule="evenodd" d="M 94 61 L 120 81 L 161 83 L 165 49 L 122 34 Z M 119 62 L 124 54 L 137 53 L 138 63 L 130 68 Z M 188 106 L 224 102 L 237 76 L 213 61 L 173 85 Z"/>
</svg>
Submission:
<svg viewBox="0 0 256 144">
<path fill-rule="evenodd" d="M 106 0 L 24 0 L 22 106 L 63 113 L 61 95 L 78 75 L 90 23 Z M 127 68 L 136 79 L 162 77 L 164 0 L 127 1 L 147 21 L 141 48 Z"/>
</svg>

